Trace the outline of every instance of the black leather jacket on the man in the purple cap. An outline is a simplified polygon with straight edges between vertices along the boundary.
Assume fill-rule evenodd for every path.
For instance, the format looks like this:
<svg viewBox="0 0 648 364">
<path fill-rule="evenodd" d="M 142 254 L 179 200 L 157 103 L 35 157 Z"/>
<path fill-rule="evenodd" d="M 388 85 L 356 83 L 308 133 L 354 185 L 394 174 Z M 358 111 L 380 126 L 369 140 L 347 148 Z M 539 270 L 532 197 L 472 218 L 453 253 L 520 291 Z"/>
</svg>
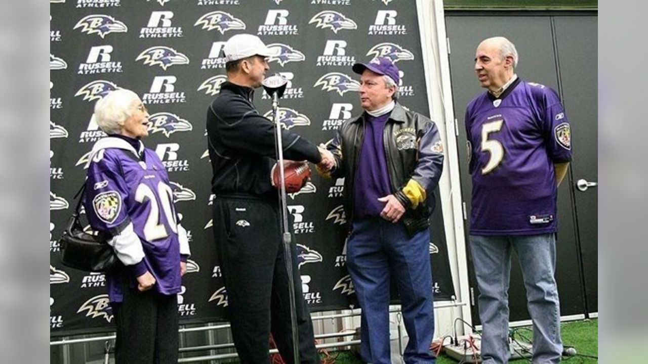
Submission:
<svg viewBox="0 0 648 364">
<path fill-rule="evenodd" d="M 364 117 L 347 120 L 328 149 L 338 165 L 332 177 L 345 177 L 345 210 L 353 221 L 353 184 L 358 155 L 364 141 Z M 419 113 L 404 109 L 397 102 L 385 124 L 384 145 L 391 181 L 391 192 L 406 207 L 402 218 L 408 233 L 413 234 L 430 226 L 428 218 L 434 210 L 434 190 L 439 185 L 443 170 L 443 144 L 437 126 Z M 402 188 L 414 179 L 426 191 L 426 201 L 413 209 Z M 351 224 L 349 224 L 351 226 Z"/>
</svg>

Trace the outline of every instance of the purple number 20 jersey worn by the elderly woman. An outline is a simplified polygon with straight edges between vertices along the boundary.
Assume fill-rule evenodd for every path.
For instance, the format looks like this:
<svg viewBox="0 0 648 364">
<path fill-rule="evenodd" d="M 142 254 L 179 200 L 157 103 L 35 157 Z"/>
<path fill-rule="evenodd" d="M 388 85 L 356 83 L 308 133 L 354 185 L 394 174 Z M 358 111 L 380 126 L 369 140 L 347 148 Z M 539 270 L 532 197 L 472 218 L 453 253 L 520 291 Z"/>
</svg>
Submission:
<svg viewBox="0 0 648 364">
<path fill-rule="evenodd" d="M 135 151 L 122 139 L 101 139 L 87 169 L 84 207 L 91 227 L 116 235 L 132 223 L 139 238 L 133 235 L 131 244 L 135 262 L 124 262 L 115 246 L 128 267 L 107 275 L 111 302 L 121 302 L 122 285 L 137 287 L 135 277 L 147 270 L 156 279 L 152 290 L 163 295 L 180 291 L 178 223 L 167 170 L 155 152 L 139 145 Z"/>
</svg>

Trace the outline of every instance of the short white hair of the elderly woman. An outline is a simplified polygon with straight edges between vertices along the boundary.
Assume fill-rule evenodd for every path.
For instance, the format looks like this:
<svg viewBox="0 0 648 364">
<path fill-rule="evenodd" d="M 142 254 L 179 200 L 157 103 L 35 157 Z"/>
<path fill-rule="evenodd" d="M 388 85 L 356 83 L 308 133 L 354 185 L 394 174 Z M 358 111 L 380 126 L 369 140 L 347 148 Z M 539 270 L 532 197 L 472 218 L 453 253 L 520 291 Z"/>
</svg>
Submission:
<svg viewBox="0 0 648 364">
<path fill-rule="evenodd" d="M 111 91 L 95 104 L 93 117 L 99 128 L 106 134 L 119 134 L 126 119 L 132 115 L 133 102 L 139 96 L 129 89 Z"/>
</svg>

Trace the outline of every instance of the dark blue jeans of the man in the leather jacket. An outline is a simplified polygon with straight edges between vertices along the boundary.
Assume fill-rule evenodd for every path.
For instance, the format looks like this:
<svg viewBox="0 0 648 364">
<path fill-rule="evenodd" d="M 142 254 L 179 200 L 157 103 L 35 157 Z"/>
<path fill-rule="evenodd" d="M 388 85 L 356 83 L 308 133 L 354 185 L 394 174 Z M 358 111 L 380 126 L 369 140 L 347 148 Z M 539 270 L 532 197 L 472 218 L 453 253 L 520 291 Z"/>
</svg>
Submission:
<svg viewBox="0 0 648 364">
<path fill-rule="evenodd" d="M 389 353 L 389 277 L 394 275 L 410 340 L 406 363 L 434 363 L 430 232 L 411 238 L 402 223 L 382 218 L 353 222 L 347 267 L 362 308 L 360 355 L 369 363 L 391 363 Z"/>
</svg>

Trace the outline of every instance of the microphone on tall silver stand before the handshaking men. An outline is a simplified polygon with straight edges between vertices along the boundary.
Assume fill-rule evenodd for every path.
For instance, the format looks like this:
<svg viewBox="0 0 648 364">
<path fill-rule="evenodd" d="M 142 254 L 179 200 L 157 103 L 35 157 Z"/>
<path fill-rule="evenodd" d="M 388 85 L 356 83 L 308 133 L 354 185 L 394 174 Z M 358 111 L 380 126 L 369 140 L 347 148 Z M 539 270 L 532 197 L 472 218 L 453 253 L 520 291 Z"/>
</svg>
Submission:
<svg viewBox="0 0 648 364">
<path fill-rule="evenodd" d="M 286 205 L 286 181 L 284 179 L 283 139 L 279 122 L 279 98 L 283 96 L 288 80 L 275 74 L 263 80 L 263 88 L 272 97 L 272 119 L 275 124 L 275 150 L 279 168 L 279 216 L 281 216 L 281 236 L 284 247 L 284 260 L 288 272 L 288 301 L 290 302 L 290 326 L 292 328 L 292 352 L 294 363 L 299 363 L 299 335 L 295 308 L 295 282 L 292 266 L 292 236 L 288 229 L 288 207 Z M 271 176 L 273 178 L 273 176 Z"/>
</svg>

